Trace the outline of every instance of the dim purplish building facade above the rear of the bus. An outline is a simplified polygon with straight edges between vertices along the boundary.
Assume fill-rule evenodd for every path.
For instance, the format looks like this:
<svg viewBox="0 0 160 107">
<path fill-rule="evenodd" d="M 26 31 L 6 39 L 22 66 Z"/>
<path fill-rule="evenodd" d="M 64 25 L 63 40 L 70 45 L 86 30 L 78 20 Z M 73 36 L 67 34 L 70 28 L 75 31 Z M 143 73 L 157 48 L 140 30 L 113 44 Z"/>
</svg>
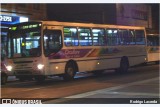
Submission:
<svg viewBox="0 0 160 107">
<path fill-rule="evenodd" d="M 116 4 L 116 13 L 116 24 L 152 28 L 150 5 Z"/>
</svg>

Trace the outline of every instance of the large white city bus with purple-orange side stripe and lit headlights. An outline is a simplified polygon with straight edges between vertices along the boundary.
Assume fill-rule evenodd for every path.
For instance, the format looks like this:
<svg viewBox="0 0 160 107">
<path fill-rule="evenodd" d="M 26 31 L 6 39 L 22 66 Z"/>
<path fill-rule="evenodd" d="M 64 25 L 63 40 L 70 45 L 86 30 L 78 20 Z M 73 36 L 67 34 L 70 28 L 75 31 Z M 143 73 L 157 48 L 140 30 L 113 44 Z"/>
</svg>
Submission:
<svg viewBox="0 0 160 107">
<path fill-rule="evenodd" d="M 35 21 L 11 26 L 7 68 L 17 78 L 44 81 L 47 76 L 74 79 L 78 72 L 128 68 L 146 61 L 144 27 Z"/>
</svg>

